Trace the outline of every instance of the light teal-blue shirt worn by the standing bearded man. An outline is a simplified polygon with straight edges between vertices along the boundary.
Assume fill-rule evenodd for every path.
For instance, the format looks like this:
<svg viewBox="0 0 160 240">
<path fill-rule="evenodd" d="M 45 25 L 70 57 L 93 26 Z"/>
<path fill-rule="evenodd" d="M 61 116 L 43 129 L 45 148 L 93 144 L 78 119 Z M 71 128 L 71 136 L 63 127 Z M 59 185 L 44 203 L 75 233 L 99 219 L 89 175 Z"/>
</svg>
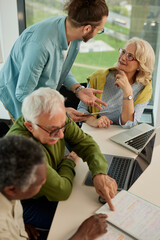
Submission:
<svg viewBox="0 0 160 240">
<path fill-rule="evenodd" d="M 0 100 L 17 119 L 24 98 L 40 87 L 70 89 L 77 83 L 70 72 L 78 54 L 80 40 L 68 43 L 66 17 L 51 17 L 28 27 L 15 42 L 0 71 Z"/>
</svg>

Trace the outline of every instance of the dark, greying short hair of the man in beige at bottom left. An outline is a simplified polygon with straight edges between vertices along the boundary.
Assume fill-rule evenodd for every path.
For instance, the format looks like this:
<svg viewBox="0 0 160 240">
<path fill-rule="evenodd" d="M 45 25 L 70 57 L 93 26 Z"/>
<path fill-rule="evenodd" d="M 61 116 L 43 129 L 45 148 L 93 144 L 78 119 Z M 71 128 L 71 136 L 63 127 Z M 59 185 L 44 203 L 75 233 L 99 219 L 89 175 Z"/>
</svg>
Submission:
<svg viewBox="0 0 160 240">
<path fill-rule="evenodd" d="M 0 191 L 15 186 L 25 192 L 37 179 L 37 167 L 45 163 L 43 150 L 34 140 L 9 135 L 0 139 Z"/>
</svg>

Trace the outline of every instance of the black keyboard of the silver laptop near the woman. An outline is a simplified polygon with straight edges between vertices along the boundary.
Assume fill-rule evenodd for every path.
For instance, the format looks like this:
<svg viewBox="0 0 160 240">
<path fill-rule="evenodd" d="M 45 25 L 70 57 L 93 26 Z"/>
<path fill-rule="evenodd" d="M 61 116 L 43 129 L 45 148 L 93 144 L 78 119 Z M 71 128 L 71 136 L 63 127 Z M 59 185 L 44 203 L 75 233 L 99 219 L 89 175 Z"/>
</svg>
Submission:
<svg viewBox="0 0 160 240">
<path fill-rule="evenodd" d="M 147 140 L 149 139 L 149 137 L 151 136 L 153 131 L 154 131 L 154 129 L 151 129 L 148 132 L 145 132 L 135 138 L 130 139 L 129 141 L 126 141 L 125 143 L 128 144 L 129 146 L 139 150 L 140 148 L 142 148 L 145 145 L 145 143 L 147 142 Z"/>
</svg>

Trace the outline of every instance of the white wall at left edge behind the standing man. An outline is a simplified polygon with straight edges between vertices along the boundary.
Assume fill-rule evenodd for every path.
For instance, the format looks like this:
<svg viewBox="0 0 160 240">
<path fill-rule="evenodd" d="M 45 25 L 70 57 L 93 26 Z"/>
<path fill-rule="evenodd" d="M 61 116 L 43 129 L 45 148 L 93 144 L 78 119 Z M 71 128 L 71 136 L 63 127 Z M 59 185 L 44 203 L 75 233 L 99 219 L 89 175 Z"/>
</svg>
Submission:
<svg viewBox="0 0 160 240">
<path fill-rule="evenodd" d="M 3 62 L 19 36 L 17 0 L 0 0 L 0 43 Z M 0 64 L 0 69 L 3 63 Z M 0 102 L 0 119 L 10 119 Z"/>
</svg>

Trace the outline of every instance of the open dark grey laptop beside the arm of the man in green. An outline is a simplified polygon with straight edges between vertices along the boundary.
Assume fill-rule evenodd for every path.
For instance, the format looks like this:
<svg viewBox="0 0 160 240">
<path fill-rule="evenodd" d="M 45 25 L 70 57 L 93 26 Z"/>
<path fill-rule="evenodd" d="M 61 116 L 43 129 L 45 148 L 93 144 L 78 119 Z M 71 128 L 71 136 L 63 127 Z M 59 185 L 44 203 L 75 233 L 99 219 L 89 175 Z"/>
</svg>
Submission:
<svg viewBox="0 0 160 240">
<path fill-rule="evenodd" d="M 109 165 L 107 174 L 116 180 L 118 190 L 128 190 L 151 163 L 155 137 L 156 131 L 150 136 L 148 142 L 135 159 L 108 154 L 104 155 Z M 90 171 L 87 174 L 84 184 L 93 186 Z"/>
</svg>

